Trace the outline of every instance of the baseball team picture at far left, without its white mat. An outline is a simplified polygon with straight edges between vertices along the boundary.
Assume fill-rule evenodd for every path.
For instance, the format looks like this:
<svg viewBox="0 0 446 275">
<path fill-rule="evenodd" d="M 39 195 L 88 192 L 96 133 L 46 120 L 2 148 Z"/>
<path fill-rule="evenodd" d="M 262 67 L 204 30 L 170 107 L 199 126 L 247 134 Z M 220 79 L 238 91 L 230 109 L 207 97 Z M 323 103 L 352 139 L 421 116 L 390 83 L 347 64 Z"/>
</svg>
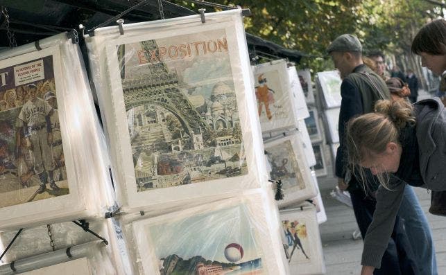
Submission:
<svg viewBox="0 0 446 275">
<path fill-rule="evenodd" d="M 53 62 L 0 69 L 0 208 L 69 193 Z"/>
</svg>

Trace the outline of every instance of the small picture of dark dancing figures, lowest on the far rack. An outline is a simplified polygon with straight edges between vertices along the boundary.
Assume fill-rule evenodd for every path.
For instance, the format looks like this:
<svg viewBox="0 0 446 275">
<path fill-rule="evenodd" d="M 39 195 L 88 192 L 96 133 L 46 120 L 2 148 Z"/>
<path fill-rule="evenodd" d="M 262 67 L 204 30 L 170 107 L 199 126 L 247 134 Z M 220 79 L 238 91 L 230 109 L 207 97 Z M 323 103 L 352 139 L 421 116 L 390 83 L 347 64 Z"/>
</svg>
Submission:
<svg viewBox="0 0 446 275">
<path fill-rule="evenodd" d="M 282 220 L 282 227 L 286 236 L 285 254 L 289 263 L 309 263 L 311 255 L 305 219 Z"/>
</svg>

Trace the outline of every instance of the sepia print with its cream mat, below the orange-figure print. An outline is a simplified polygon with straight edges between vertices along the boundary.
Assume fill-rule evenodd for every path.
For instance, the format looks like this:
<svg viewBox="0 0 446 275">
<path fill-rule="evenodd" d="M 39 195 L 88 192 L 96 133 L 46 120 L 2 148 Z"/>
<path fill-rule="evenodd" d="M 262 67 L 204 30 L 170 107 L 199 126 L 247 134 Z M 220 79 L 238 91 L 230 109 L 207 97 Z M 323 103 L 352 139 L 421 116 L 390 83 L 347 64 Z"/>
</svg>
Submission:
<svg viewBox="0 0 446 275">
<path fill-rule="evenodd" d="M 282 179 L 284 199 L 276 202 L 279 207 L 316 196 L 316 186 L 297 132 L 266 142 L 265 152 L 271 166 L 270 178 Z"/>
</svg>

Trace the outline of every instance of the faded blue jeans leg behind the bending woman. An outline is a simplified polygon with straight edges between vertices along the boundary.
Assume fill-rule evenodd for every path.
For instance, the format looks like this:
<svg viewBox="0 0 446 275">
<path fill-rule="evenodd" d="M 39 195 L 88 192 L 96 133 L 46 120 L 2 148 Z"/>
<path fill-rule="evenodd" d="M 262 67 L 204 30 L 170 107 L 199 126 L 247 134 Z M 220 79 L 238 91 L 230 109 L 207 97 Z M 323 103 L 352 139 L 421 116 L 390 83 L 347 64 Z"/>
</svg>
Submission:
<svg viewBox="0 0 446 275">
<path fill-rule="evenodd" d="M 398 215 L 404 220 L 404 229 L 411 242 L 420 274 L 437 275 L 431 229 L 412 186 L 406 185 L 404 188 L 404 197 Z"/>
</svg>

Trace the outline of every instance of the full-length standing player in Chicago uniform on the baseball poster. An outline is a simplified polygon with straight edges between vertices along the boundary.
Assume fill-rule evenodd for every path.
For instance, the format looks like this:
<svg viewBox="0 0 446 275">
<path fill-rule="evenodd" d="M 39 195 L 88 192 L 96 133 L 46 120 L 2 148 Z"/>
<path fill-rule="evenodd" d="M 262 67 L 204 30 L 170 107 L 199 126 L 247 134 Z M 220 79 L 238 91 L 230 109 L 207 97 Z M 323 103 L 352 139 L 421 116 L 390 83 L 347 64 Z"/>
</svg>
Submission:
<svg viewBox="0 0 446 275">
<path fill-rule="evenodd" d="M 17 118 L 17 134 L 20 128 L 26 137 L 26 147 L 30 149 L 35 175 L 40 179 L 37 193 L 43 193 L 46 183 L 50 182 L 53 190 L 58 190 L 53 179 L 54 162 L 51 155 L 53 134 L 51 132 L 51 106 L 41 98 L 37 98 L 37 86 L 28 85 L 28 101 L 23 105 Z M 19 136 L 17 137 L 19 141 Z M 19 145 L 19 144 L 17 144 Z"/>
</svg>

